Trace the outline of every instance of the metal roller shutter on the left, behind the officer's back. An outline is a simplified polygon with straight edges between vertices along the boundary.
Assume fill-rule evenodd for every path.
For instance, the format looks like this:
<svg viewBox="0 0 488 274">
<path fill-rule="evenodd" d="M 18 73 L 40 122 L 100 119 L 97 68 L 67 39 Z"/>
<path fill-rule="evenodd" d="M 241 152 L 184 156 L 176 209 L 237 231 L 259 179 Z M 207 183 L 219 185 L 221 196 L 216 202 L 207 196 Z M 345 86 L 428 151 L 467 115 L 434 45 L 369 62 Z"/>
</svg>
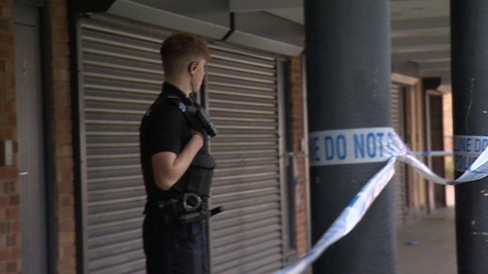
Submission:
<svg viewBox="0 0 488 274">
<path fill-rule="evenodd" d="M 89 19 L 77 33 L 85 273 L 145 273 L 138 127 L 167 34 Z"/>
</svg>

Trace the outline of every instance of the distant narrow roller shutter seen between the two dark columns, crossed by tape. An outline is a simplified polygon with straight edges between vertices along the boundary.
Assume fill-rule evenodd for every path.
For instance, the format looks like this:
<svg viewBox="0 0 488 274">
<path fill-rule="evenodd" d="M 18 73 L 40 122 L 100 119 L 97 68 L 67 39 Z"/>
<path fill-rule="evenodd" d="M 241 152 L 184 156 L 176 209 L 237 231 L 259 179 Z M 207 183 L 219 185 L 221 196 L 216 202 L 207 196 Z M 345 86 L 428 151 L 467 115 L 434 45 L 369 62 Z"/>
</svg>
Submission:
<svg viewBox="0 0 488 274">
<path fill-rule="evenodd" d="M 403 139 L 403 92 L 399 85 L 391 85 L 391 123 L 395 132 Z M 394 184 L 395 223 L 400 226 L 406 215 L 405 164 L 396 162 Z"/>
</svg>

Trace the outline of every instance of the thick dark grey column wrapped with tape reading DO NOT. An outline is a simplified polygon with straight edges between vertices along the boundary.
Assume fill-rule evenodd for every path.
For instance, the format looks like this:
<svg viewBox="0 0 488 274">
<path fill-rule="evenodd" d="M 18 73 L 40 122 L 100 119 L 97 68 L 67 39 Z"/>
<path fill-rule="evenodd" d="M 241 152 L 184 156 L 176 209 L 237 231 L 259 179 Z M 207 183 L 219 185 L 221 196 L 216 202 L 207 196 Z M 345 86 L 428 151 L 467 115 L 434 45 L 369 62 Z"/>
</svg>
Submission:
<svg viewBox="0 0 488 274">
<path fill-rule="evenodd" d="M 391 126 L 388 0 L 306 0 L 304 8 L 309 132 Z M 313 243 L 383 166 L 310 168 Z M 389 184 L 314 273 L 396 273 L 395 243 Z"/>
</svg>

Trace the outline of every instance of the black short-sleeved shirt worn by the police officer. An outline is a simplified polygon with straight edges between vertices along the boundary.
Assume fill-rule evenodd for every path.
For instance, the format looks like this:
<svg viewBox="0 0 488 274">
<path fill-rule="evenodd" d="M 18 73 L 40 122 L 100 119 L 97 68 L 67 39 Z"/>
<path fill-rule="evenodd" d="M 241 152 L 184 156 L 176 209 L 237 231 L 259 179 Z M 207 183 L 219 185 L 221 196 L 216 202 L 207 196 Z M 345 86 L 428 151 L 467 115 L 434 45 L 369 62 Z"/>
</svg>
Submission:
<svg viewBox="0 0 488 274">
<path fill-rule="evenodd" d="M 191 127 L 181 110 L 167 101 L 160 103 L 167 96 L 177 96 L 185 104 L 191 104 L 181 90 L 164 82 L 158 99 L 142 117 L 139 128 L 140 162 L 147 199 L 150 200 L 180 199 L 183 195 L 173 188 L 167 191 L 158 188 L 152 172 L 152 155 L 163 151 L 178 155 L 191 138 Z"/>
</svg>

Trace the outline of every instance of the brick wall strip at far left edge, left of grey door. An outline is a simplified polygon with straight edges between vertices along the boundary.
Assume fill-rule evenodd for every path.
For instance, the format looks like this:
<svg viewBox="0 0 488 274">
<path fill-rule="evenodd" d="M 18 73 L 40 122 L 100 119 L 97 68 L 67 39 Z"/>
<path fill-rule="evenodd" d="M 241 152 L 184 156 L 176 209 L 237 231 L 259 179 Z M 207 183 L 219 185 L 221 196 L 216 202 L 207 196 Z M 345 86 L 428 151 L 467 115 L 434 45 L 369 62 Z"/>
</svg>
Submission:
<svg viewBox="0 0 488 274">
<path fill-rule="evenodd" d="M 0 0 L 0 140 L 17 141 L 12 0 Z M 0 166 L 0 273 L 20 273 L 18 159 Z"/>
</svg>

